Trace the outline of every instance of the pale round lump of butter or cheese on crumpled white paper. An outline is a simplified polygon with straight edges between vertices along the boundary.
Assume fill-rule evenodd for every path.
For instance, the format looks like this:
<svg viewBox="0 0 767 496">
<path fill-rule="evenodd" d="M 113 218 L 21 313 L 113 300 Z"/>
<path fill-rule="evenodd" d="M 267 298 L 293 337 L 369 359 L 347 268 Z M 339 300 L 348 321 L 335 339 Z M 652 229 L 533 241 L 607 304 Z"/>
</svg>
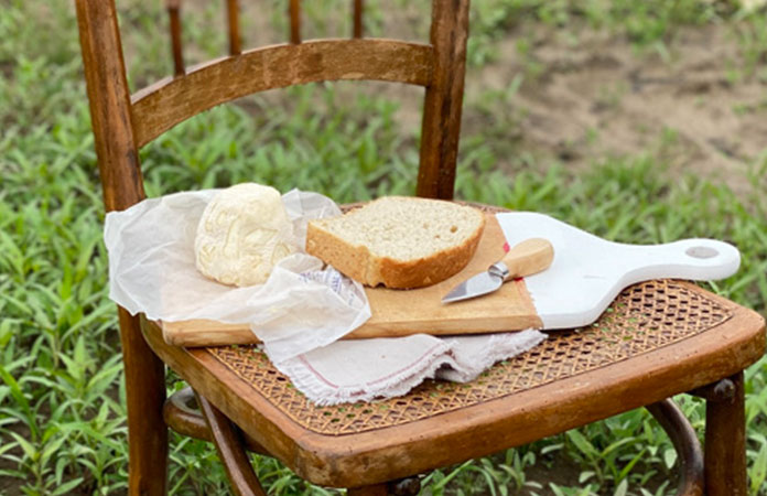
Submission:
<svg viewBox="0 0 767 496">
<path fill-rule="evenodd" d="M 267 281 L 274 265 L 298 250 L 280 192 L 255 183 L 218 193 L 195 236 L 195 262 L 205 277 L 230 285 Z"/>
</svg>

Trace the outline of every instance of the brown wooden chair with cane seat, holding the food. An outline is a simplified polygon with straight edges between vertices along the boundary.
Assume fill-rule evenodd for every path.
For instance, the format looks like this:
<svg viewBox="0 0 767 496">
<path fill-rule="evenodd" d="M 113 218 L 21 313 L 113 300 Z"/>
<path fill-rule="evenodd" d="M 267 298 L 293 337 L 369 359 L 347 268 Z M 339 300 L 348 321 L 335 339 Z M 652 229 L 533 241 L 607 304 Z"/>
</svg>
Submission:
<svg viewBox="0 0 767 496">
<path fill-rule="evenodd" d="M 326 79 L 425 88 L 417 194 L 452 198 L 464 85 L 468 0 L 433 0 L 429 44 L 363 37 L 353 1 L 348 40 L 302 41 L 290 1 L 290 43 L 242 51 L 237 0 L 227 1 L 227 57 L 182 61 L 179 1 L 169 1 L 175 76 L 129 94 L 114 0 L 76 0 L 104 201 L 144 198 L 139 149 L 218 104 Z M 680 452 L 682 494 L 746 494 L 743 369 L 761 356 L 764 320 L 682 281 L 624 291 L 599 322 L 552 333 L 465 387 L 428 381 L 402 398 L 346 410 L 315 407 L 257 351 L 165 344 L 154 322 L 119 309 L 128 397 L 131 494 L 165 492 L 168 427 L 215 442 L 238 494 L 263 494 L 246 455 L 278 457 L 305 479 L 349 494 L 413 494 L 413 476 L 648 406 Z M 165 398 L 165 365 L 194 389 Z M 667 398 L 706 399 L 705 453 Z"/>
</svg>

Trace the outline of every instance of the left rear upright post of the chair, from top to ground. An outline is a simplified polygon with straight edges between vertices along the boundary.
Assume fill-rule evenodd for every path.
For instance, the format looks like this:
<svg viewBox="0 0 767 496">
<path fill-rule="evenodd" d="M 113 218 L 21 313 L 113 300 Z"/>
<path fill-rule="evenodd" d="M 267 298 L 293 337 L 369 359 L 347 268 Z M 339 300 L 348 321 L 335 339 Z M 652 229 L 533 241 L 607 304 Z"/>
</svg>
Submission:
<svg viewBox="0 0 767 496">
<path fill-rule="evenodd" d="M 130 126 L 117 12 L 111 1 L 77 0 L 75 4 L 104 203 L 107 211 L 120 211 L 142 200 L 144 190 Z M 129 493 L 165 494 L 164 365 L 143 339 L 139 319 L 123 309 L 118 314 L 128 386 Z"/>
</svg>

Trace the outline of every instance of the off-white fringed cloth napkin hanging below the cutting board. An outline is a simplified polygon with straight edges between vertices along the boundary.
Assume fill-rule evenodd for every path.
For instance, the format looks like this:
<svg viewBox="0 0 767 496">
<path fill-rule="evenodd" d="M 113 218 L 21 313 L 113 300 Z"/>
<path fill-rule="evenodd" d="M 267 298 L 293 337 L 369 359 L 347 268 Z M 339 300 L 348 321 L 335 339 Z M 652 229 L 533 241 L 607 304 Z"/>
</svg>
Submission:
<svg viewBox="0 0 767 496">
<path fill-rule="evenodd" d="M 545 334 L 515 333 L 460 337 L 337 341 L 276 364 L 320 406 L 372 401 L 406 395 L 424 379 L 474 380 L 496 362 L 527 352 Z"/>
</svg>

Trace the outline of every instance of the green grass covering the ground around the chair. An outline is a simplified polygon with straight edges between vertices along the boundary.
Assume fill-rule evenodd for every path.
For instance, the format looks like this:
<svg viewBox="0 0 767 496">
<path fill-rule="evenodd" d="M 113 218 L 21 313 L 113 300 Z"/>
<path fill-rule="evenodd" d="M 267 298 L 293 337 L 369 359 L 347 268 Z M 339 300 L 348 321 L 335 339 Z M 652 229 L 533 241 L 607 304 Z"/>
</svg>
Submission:
<svg viewBox="0 0 767 496">
<path fill-rule="evenodd" d="M 346 3 L 313 2 L 307 17 L 326 17 Z M 380 32 L 386 9 L 380 1 L 369 3 L 369 28 Z M 141 35 L 158 34 L 162 11 L 160 2 L 120 6 L 122 23 L 132 30 L 125 42 L 138 87 L 170 69 L 165 40 Z M 270 3 L 273 10 L 277 6 Z M 767 53 L 764 21 L 720 6 L 693 0 L 475 0 L 471 63 L 493 62 L 498 41 L 526 23 L 561 31 L 585 24 L 627 36 L 641 48 L 667 43 L 682 25 L 726 22 L 744 53 L 738 74 L 758 77 Z M 72 10 L 68 2 L 11 0 L 0 13 L 0 492 L 8 494 L 112 494 L 127 483 L 121 355 L 115 306 L 106 293 L 104 211 Z M 284 20 L 274 12 L 270 19 L 284 32 Z M 347 24 L 315 29 L 320 34 L 344 32 Z M 224 46 L 212 32 L 198 25 L 186 34 L 197 42 L 197 57 Z M 299 186 L 338 202 L 411 192 L 418 129 L 401 129 L 397 101 L 375 90 L 353 93 L 355 87 L 326 84 L 292 88 L 282 98 L 252 97 L 173 129 L 142 150 L 148 193 L 241 181 L 283 191 Z M 463 137 L 460 197 L 549 213 L 626 242 L 692 236 L 730 240 L 743 252 L 743 268 L 710 288 L 765 312 L 767 153 L 753 161 L 748 187 L 738 195 L 692 173 L 681 179 L 670 174 L 667 150 L 674 145 L 673 132 L 659 133 L 658 144 L 641 153 L 597 158 L 576 174 L 509 140 L 507 125 L 516 117 L 508 107 L 504 93 L 467 98 L 465 114 L 487 115 L 491 125 Z M 764 359 L 746 374 L 754 494 L 767 493 L 766 378 Z M 181 386 L 169 377 L 169 390 Z M 679 400 L 702 433 L 701 401 Z M 173 494 L 226 490 L 209 444 L 176 435 L 172 441 Z M 271 459 L 253 460 L 273 494 L 327 493 Z M 536 470 L 555 474 L 562 466 L 572 468 L 574 479 L 550 484 L 533 476 Z M 663 481 L 678 468 L 669 440 L 637 410 L 433 472 L 424 487 L 434 495 L 519 489 L 667 494 L 672 485 Z"/>
</svg>

